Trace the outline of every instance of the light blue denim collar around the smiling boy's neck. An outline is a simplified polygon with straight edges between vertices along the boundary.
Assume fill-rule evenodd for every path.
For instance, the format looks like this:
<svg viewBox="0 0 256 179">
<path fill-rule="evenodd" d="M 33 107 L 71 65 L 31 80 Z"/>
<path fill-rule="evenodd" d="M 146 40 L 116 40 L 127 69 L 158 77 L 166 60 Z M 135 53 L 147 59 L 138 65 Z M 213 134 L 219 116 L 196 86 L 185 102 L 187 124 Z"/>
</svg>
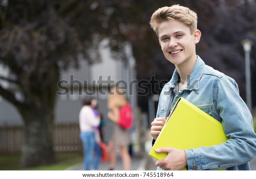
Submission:
<svg viewBox="0 0 256 179">
<path fill-rule="evenodd" d="M 198 57 L 197 61 L 195 63 L 195 66 L 191 72 L 188 83 L 184 88 L 184 90 L 189 90 L 189 91 L 199 90 L 199 80 L 203 74 L 205 63 L 198 55 L 197 57 Z M 169 81 L 169 87 L 168 89 L 166 89 L 166 92 L 171 89 L 173 90 L 177 86 L 178 80 L 179 80 L 179 73 L 177 69 L 175 69 L 172 75 L 172 79 Z"/>
</svg>

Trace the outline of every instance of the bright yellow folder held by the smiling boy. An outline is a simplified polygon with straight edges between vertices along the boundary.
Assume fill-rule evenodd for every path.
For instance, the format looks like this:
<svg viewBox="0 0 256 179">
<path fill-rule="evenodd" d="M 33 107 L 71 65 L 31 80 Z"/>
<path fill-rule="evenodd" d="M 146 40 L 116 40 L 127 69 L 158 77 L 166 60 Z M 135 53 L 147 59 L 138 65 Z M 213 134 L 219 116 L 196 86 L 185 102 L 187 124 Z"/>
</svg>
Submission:
<svg viewBox="0 0 256 179">
<path fill-rule="evenodd" d="M 149 155 L 157 160 L 167 153 L 156 153 L 162 147 L 177 149 L 210 147 L 227 141 L 221 122 L 180 97 L 173 107 Z"/>
</svg>

